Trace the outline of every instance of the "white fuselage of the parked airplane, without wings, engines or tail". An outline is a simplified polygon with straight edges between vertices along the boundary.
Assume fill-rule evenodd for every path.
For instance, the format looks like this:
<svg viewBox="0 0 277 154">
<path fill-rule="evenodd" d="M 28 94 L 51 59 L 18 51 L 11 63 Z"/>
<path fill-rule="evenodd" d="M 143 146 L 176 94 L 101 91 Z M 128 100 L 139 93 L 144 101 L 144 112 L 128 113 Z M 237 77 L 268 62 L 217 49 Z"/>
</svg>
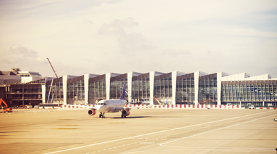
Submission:
<svg viewBox="0 0 277 154">
<path fill-rule="evenodd" d="M 96 105 L 96 108 L 99 112 L 119 112 L 120 110 L 116 110 L 118 108 L 124 108 L 127 101 L 125 100 L 101 100 Z"/>
</svg>

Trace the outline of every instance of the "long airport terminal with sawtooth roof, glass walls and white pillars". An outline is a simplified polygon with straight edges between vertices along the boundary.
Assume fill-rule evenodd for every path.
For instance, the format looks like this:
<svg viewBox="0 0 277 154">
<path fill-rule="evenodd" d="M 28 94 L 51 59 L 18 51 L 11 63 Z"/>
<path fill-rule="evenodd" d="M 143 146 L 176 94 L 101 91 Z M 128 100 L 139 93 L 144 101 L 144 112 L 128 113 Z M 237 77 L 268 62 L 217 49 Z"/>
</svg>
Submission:
<svg viewBox="0 0 277 154">
<path fill-rule="evenodd" d="M 102 75 L 62 76 L 40 78 L 24 85 L 36 85 L 41 103 L 93 104 L 102 99 L 120 99 L 126 83 L 125 98 L 132 103 L 149 104 L 215 104 L 277 106 L 277 78 L 269 74 L 250 77 L 249 74 L 229 75 L 224 72 L 206 74 L 196 71 L 186 74 L 181 71 L 146 74 L 107 73 Z M 19 85 L 17 85 L 19 86 Z M 25 87 L 28 87 L 25 86 Z M 6 98 L 12 99 L 20 90 L 15 85 L 6 87 Z M 18 87 L 17 87 L 18 88 Z M 20 88 L 19 88 L 20 89 Z M 15 93 L 15 94 L 14 94 Z M 14 95 L 12 95 L 14 94 Z M 32 97 L 32 95 L 26 95 Z M 24 93 L 21 94 L 24 97 Z M 18 97 L 17 97 L 18 99 Z M 20 98 L 17 100 L 20 101 Z"/>
</svg>

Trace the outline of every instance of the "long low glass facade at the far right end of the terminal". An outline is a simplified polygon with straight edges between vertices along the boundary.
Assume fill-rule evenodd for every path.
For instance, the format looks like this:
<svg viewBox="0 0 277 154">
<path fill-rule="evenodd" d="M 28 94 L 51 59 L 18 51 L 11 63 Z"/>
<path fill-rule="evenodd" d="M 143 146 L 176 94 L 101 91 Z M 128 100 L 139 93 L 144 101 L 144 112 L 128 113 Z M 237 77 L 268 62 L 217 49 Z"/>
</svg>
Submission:
<svg viewBox="0 0 277 154">
<path fill-rule="evenodd" d="M 276 80 L 222 82 L 222 101 L 277 101 Z"/>
</svg>

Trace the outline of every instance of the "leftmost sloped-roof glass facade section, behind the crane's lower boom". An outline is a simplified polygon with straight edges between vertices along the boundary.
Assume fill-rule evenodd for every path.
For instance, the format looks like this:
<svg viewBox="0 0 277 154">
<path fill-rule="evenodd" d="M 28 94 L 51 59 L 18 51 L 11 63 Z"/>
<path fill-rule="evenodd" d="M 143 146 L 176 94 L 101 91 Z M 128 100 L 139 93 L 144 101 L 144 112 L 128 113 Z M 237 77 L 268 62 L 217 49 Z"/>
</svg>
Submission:
<svg viewBox="0 0 277 154">
<path fill-rule="evenodd" d="M 46 83 L 46 100 L 45 102 L 47 102 L 48 100 L 48 95 L 49 95 L 49 90 L 50 90 L 50 87 L 51 87 L 51 83 L 52 81 L 48 81 Z M 55 101 L 63 101 L 64 100 L 64 90 L 63 90 L 63 84 L 62 84 L 62 77 L 61 78 L 56 78 L 53 80 L 53 85 L 52 85 L 52 88 L 51 88 L 51 92 L 50 92 L 50 95 L 49 95 L 49 100 L 48 100 L 48 103 L 51 103 L 52 101 L 52 98 L 53 98 L 53 102 L 52 103 L 55 103 Z"/>
</svg>

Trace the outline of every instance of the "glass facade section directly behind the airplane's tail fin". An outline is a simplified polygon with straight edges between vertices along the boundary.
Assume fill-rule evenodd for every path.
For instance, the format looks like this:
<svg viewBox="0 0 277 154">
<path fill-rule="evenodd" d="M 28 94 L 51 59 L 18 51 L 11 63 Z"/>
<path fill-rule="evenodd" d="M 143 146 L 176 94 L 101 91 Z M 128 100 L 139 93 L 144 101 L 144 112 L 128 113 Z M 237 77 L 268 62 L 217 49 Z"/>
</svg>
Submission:
<svg viewBox="0 0 277 154">
<path fill-rule="evenodd" d="M 110 99 L 120 99 L 122 88 L 125 83 L 125 91 L 128 89 L 127 74 L 116 76 L 111 78 L 110 84 Z M 128 95 L 125 93 L 125 99 L 128 98 Z"/>
</svg>

